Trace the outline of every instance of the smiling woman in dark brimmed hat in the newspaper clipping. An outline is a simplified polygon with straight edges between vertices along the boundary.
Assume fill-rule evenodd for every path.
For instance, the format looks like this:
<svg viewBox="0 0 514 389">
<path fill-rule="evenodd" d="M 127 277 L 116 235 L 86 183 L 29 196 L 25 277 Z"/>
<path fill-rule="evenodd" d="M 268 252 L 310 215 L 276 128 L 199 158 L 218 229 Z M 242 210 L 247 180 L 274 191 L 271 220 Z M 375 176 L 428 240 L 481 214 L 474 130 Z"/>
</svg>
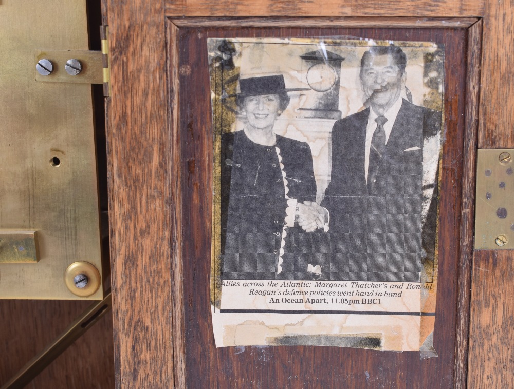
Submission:
<svg viewBox="0 0 514 389">
<path fill-rule="evenodd" d="M 289 104 L 283 75 L 240 79 L 242 131 L 222 137 L 222 278 L 313 279 L 308 234 L 299 220 L 314 219 L 304 201 L 316 200 L 307 143 L 273 132 Z M 309 204 L 309 203 L 307 203 Z M 318 229 L 322 225 L 316 225 Z M 310 267 L 312 270 L 312 267 Z"/>
</svg>

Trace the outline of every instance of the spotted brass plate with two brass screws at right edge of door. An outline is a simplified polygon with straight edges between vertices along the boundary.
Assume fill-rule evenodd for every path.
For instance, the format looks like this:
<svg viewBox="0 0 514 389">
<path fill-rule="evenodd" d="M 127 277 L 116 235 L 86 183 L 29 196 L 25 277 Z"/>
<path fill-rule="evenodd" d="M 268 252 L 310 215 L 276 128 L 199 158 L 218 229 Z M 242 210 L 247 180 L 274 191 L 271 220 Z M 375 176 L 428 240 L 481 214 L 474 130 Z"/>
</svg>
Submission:
<svg viewBox="0 0 514 389">
<path fill-rule="evenodd" d="M 514 248 L 514 149 L 478 150 L 475 249 Z"/>
</svg>

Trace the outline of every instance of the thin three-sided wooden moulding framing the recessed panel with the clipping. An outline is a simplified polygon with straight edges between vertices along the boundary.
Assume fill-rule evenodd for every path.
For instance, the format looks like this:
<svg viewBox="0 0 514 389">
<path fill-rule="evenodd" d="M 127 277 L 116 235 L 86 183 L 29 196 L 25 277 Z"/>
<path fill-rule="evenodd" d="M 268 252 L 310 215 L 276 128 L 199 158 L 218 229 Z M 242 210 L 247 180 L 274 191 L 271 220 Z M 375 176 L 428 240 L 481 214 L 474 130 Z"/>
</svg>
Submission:
<svg viewBox="0 0 514 389">
<path fill-rule="evenodd" d="M 178 42 L 177 35 L 178 29 L 182 27 L 219 27 L 219 26 L 237 26 L 237 27 L 316 27 L 316 26 L 329 26 L 329 27 L 377 27 L 377 21 L 371 18 L 340 18 L 334 20 L 328 18 L 233 18 L 230 20 L 219 18 L 182 18 L 169 20 L 167 23 L 167 39 L 171 52 L 168 57 L 171 59 L 169 64 L 169 74 L 172 74 L 168 80 L 170 88 L 170 112 L 169 123 L 170 132 L 172 134 L 172 155 L 173 160 L 177 165 L 174 166 L 172 177 L 172 196 L 174 204 L 181 204 L 181 187 L 180 179 L 182 172 L 177 169 L 180 166 L 181 146 L 179 142 L 179 110 L 177 104 L 178 96 Z M 458 321 L 457 321 L 457 339 L 456 342 L 456 355 L 455 365 L 459 368 L 455 369 L 454 380 L 458 383 L 458 387 L 465 386 L 466 382 L 466 368 L 467 368 L 467 339 L 468 339 L 468 324 L 469 324 L 469 285 L 470 285 L 470 255 L 473 239 L 473 215 L 474 206 L 474 171 L 475 163 L 475 148 L 476 148 L 476 121 L 473 119 L 476 116 L 476 109 L 478 108 L 478 90 L 479 90 L 479 76 L 480 67 L 476 66 L 476 62 L 480 59 L 480 33 L 482 29 L 482 22 L 476 18 L 450 18 L 450 19 L 428 19 L 419 21 L 417 19 L 401 18 L 400 20 L 386 20 L 380 23 L 381 27 L 410 27 L 410 28 L 465 28 L 468 29 L 468 58 L 471 62 L 468 64 L 468 80 L 467 80 L 467 105 L 466 105 L 466 133 L 468 134 L 465 139 L 466 160 L 467 168 L 464 169 L 465 177 L 463 178 L 463 193 L 462 193 L 462 207 L 463 216 L 461 228 L 461 255 L 460 269 L 461 273 L 458 276 L 459 293 L 458 293 Z M 473 91 L 473 93 L 469 93 Z M 173 260 L 173 282 L 172 295 L 173 309 L 174 309 L 174 365 L 175 365 L 175 382 L 178 387 L 185 387 L 186 385 L 186 372 L 185 372 L 185 344 L 184 344 L 184 331 L 185 331 L 185 315 L 183 313 L 183 293 L 182 293 L 182 274 L 181 268 L 181 255 L 180 246 L 183 237 L 181 236 L 181 221 L 179 207 L 175 208 L 176 212 L 173 213 L 173 225 L 176 229 L 173 231 L 173 245 L 172 251 L 175 256 Z M 468 217 L 466 217 L 468 216 Z M 207 217 L 206 222 L 210 222 L 210 217 Z"/>
</svg>

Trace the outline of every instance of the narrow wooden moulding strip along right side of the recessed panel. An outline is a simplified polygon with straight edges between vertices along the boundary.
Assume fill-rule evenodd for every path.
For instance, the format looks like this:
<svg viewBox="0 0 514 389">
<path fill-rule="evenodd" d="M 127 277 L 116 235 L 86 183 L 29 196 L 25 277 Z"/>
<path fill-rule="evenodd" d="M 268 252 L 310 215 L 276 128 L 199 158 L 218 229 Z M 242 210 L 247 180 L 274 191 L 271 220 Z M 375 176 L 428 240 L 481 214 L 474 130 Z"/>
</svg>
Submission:
<svg viewBox="0 0 514 389">
<path fill-rule="evenodd" d="M 480 62 L 482 20 L 468 29 L 468 57 L 466 63 L 466 138 L 463 152 L 461 266 L 459 267 L 457 340 L 455 343 L 456 387 L 466 387 L 468 370 L 469 303 L 471 295 L 471 263 L 473 258 L 474 207 L 476 181 L 476 142 L 480 93 Z"/>
</svg>

